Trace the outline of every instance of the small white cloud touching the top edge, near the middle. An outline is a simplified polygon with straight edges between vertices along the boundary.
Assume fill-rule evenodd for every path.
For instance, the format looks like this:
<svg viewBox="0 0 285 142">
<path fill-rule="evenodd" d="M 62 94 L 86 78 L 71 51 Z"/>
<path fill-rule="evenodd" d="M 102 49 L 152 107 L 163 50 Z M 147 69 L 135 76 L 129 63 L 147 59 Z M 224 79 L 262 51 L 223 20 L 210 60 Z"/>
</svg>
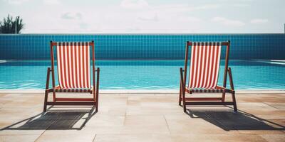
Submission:
<svg viewBox="0 0 285 142">
<path fill-rule="evenodd" d="M 121 1 L 120 6 L 126 9 L 142 9 L 149 5 L 145 0 L 123 0 Z"/>
</svg>

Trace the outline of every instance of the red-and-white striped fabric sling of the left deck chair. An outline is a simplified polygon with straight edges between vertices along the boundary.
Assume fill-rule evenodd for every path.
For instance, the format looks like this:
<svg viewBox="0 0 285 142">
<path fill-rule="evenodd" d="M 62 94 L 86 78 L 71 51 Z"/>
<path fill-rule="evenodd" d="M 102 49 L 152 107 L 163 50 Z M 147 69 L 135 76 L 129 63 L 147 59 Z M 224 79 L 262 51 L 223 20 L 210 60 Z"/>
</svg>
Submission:
<svg viewBox="0 0 285 142">
<path fill-rule="evenodd" d="M 90 88 L 88 43 L 57 43 L 58 83 L 61 89 Z"/>
</svg>

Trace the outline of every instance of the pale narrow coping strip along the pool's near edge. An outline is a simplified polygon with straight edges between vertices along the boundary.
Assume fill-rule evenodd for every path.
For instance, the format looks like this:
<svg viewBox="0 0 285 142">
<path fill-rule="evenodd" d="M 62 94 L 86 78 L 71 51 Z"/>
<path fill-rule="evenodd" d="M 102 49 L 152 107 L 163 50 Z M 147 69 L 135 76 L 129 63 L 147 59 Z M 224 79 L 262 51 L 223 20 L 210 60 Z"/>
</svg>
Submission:
<svg viewBox="0 0 285 142">
<path fill-rule="evenodd" d="M 44 93 L 44 89 L 0 89 L 0 94 L 4 93 L 21 93 L 21 94 L 38 94 Z M 103 94 L 177 94 L 179 89 L 101 89 Z M 244 94 L 285 94 L 285 89 L 236 89 L 236 93 Z"/>
</svg>

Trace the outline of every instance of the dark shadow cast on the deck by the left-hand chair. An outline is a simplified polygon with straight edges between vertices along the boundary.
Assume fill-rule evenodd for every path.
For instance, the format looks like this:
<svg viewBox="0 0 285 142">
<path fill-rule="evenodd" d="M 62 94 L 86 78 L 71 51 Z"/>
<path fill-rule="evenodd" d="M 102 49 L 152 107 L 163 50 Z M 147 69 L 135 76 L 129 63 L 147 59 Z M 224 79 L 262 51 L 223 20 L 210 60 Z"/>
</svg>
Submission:
<svg viewBox="0 0 285 142">
<path fill-rule="evenodd" d="M 92 109 L 48 110 L 6 126 L 3 130 L 81 130 L 96 112 Z"/>
</svg>

